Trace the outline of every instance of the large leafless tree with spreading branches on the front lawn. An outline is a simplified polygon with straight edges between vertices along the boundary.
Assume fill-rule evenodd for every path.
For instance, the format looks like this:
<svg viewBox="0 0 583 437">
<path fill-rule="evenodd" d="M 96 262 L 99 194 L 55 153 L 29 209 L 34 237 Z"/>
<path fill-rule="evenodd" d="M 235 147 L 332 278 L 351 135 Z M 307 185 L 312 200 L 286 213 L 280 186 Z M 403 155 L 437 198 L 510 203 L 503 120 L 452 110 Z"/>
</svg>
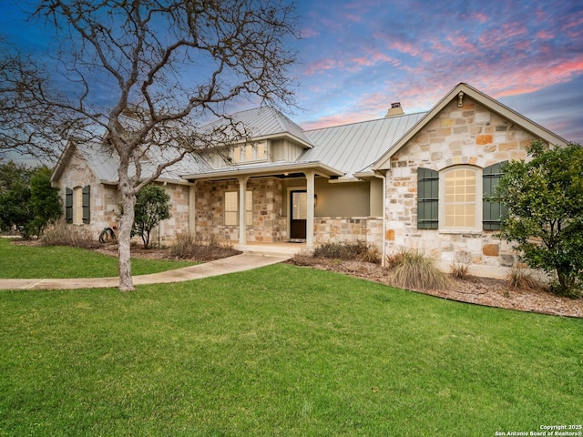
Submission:
<svg viewBox="0 0 583 437">
<path fill-rule="evenodd" d="M 32 17 L 60 41 L 51 79 L 67 93 L 45 91 L 41 80 L 31 97 L 84 127 L 90 122 L 83 131 L 77 123 L 75 136 L 99 137 L 118 159 L 120 290 L 134 290 L 129 242 L 138 191 L 187 153 L 245 135 L 237 127 L 203 130 L 199 120 L 224 117 L 234 99 L 293 103 L 295 54 L 286 39 L 295 37 L 294 14 L 284 0 L 39 2 Z M 153 150 L 167 158 L 142 171 Z"/>
</svg>

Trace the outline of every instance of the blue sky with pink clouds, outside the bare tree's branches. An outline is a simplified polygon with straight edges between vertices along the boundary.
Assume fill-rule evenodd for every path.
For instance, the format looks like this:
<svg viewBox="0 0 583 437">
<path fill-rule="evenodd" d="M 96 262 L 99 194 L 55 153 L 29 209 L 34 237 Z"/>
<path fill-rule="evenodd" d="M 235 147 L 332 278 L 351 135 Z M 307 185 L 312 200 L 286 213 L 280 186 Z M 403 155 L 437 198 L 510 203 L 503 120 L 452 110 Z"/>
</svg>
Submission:
<svg viewBox="0 0 583 437">
<path fill-rule="evenodd" d="M 0 33 L 42 46 L 11 0 Z M 583 144 L 583 0 L 297 0 L 304 129 L 428 111 L 465 82 Z"/>
</svg>

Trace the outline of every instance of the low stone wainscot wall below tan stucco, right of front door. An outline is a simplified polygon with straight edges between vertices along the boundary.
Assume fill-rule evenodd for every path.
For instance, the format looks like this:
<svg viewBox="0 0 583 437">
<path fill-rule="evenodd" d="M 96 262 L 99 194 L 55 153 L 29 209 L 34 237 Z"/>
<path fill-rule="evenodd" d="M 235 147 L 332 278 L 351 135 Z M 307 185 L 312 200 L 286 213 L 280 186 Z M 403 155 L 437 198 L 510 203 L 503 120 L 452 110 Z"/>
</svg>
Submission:
<svg viewBox="0 0 583 437">
<path fill-rule="evenodd" d="M 383 244 L 383 218 L 381 217 L 316 217 L 314 242 L 365 241 L 379 249 Z"/>
</svg>

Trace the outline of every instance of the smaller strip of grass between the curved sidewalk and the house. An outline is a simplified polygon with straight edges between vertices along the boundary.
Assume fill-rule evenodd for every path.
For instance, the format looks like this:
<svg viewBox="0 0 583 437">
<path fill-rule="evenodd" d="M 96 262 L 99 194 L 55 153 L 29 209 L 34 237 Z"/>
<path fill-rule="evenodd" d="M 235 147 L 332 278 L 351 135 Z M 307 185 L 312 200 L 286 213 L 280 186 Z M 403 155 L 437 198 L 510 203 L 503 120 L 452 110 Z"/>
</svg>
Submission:
<svg viewBox="0 0 583 437">
<path fill-rule="evenodd" d="M 132 273 L 145 275 L 196 264 L 168 259 L 132 259 Z M 118 259 L 69 246 L 21 246 L 0 239 L 0 278 L 105 278 L 118 276 Z"/>
</svg>

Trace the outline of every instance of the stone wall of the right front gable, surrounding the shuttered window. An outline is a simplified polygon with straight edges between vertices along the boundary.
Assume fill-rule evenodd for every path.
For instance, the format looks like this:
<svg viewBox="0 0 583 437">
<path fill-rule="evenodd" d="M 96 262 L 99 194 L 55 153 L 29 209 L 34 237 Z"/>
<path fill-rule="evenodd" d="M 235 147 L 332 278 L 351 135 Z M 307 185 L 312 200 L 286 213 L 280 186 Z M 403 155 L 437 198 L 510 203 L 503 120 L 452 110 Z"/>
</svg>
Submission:
<svg viewBox="0 0 583 437">
<path fill-rule="evenodd" d="M 387 253 L 419 249 L 444 263 L 514 265 L 516 254 L 510 245 L 495 238 L 496 231 L 417 229 L 416 172 L 419 167 L 485 168 L 505 160 L 523 159 L 525 148 L 534 139 L 467 97 L 464 107 L 452 101 L 392 157 L 386 190 Z"/>
</svg>

